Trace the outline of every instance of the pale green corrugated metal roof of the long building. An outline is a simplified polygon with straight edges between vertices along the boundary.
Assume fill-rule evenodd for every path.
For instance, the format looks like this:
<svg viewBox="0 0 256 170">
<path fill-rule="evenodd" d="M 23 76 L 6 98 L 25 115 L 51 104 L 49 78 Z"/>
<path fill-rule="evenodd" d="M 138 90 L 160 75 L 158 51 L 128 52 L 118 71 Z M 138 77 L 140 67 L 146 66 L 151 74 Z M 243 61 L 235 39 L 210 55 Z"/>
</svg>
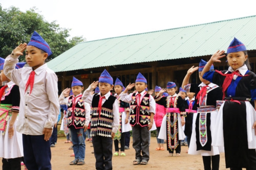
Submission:
<svg viewBox="0 0 256 170">
<path fill-rule="evenodd" d="M 233 37 L 256 49 L 256 15 L 81 42 L 47 64 L 55 72 L 199 57 L 226 50 Z"/>
</svg>

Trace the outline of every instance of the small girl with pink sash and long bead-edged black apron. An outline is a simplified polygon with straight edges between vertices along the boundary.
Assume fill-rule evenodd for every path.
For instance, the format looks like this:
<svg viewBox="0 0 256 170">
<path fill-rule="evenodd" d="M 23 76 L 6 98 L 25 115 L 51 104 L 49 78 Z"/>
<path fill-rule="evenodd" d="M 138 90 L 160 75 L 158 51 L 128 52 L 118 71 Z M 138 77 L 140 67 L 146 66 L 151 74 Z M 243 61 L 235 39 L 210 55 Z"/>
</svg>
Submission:
<svg viewBox="0 0 256 170">
<path fill-rule="evenodd" d="M 174 150 L 176 156 L 180 156 L 181 140 L 186 137 L 182 129 L 185 124 L 185 105 L 181 96 L 176 93 L 177 86 L 174 82 L 167 83 L 167 97 L 162 96 L 165 91 L 166 89 L 161 89 L 155 96 L 156 103 L 166 108 L 158 138 L 166 139 L 169 156 L 173 156 Z"/>
</svg>

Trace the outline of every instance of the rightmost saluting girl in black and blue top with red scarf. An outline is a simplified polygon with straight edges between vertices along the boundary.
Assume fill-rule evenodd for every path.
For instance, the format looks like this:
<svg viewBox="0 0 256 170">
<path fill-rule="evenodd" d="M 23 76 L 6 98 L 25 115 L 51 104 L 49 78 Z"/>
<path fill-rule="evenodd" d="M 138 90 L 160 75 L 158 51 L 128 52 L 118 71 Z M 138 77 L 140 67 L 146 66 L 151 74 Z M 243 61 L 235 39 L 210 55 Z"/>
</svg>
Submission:
<svg viewBox="0 0 256 170">
<path fill-rule="evenodd" d="M 256 169 L 256 112 L 250 104 L 250 100 L 256 101 L 256 75 L 250 71 L 245 45 L 237 38 L 227 49 L 228 70 L 209 71 L 212 63 L 225 57 L 224 52 L 212 55 L 202 71 L 204 79 L 222 87 L 225 100 L 212 145 L 224 146 L 226 168 Z"/>
</svg>

